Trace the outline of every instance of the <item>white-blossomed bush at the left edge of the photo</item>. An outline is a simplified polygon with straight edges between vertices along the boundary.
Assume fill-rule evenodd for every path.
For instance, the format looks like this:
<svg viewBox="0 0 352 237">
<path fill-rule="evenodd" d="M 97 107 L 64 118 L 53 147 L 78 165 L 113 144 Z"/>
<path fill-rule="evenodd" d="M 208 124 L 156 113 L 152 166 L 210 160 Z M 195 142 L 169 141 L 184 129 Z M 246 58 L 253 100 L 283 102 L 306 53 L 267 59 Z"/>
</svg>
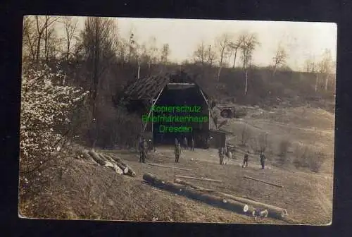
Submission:
<svg viewBox="0 0 352 237">
<path fill-rule="evenodd" d="M 86 97 L 82 88 L 56 85 L 65 80 L 62 71 L 48 66 L 23 71 L 20 111 L 20 169 L 30 171 L 59 151 L 63 135 L 55 126 L 68 125 L 70 113 Z"/>
</svg>

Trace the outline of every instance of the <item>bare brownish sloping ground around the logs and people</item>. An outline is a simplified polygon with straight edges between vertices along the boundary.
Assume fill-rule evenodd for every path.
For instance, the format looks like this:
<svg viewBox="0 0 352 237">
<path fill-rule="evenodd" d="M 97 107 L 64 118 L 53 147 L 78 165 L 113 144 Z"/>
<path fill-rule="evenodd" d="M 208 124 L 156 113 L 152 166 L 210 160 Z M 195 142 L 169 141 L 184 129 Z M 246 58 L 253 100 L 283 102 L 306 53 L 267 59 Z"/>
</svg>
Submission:
<svg viewBox="0 0 352 237">
<path fill-rule="evenodd" d="M 289 122 L 280 120 L 274 113 L 249 114 L 242 121 L 231 119 L 227 130 L 239 133 L 239 125 L 245 123 L 251 126 L 253 133 L 267 130 L 270 138 L 282 139 L 289 135 L 293 142 L 305 142 L 320 134 L 316 143 L 332 152 L 333 131 L 331 124 L 333 116 L 317 115 L 315 128 L 312 128 L 311 118 L 296 116 L 301 111 L 280 111 L 289 114 Z M 278 114 L 278 112 L 276 112 Z M 305 112 L 307 113 L 307 111 Z M 315 114 L 309 111 L 308 115 Z M 257 116 L 257 117 L 256 117 Z M 274 119 L 270 119 L 270 116 Z M 282 115 L 284 118 L 285 115 Z M 327 122 L 325 123 L 325 118 Z M 306 121 L 306 122 L 305 122 Z M 279 126 L 278 123 L 284 123 Z M 301 123 L 301 124 L 300 124 Z M 303 128 L 303 129 L 302 129 Z M 311 130 L 313 129 L 313 130 Z M 308 134 L 308 135 L 307 135 Z M 236 142 L 236 137 L 232 138 Z M 81 159 L 71 159 L 70 164 L 60 172 L 51 171 L 54 176 L 46 190 L 36 200 L 21 202 L 20 209 L 32 205 L 31 212 L 22 212 L 25 217 L 59 218 L 59 219 L 109 219 L 130 221 L 201 221 L 227 223 L 263 223 L 288 224 L 276 219 L 254 219 L 244 214 L 237 214 L 210 205 L 189 200 L 158 190 L 144 183 L 144 173 L 151 173 L 158 178 L 173 181 L 175 175 L 196 176 L 221 180 L 222 183 L 188 180 L 203 188 L 212 188 L 236 196 L 249 197 L 258 202 L 275 205 L 287 209 L 289 218 L 301 224 L 322 225 L 332 221 L 332 160 L 327 161 L 325 169 L 320 174 L 292 168 L 277 167 L 269 159 L 266 169 L 260 169 L 256 156 L 249 158 L 249 167 L 241 167 L 243 154 L 235 152 L 232 160 L 225 159 L 227 164 L 218 164 L 216 150 L 196 149 L 194 152 L 184 150 L 180 164 L 175 164 L 172 147 L 157 147 L 151 152 L 147 163 L 166 164 L 191 169 L 182 171 L 161 168 L 138 162 L 138 154 L 128 150 L 100 150 L 100 152 L 118 155 L 137 173 L 137 177 L 119 176 L 113 170 L 104 166 L 89 165 Z M 258 183 L 244 178 L 251 176 L 272 183 L 278 183 L 284 188 Z"/>
</svg>

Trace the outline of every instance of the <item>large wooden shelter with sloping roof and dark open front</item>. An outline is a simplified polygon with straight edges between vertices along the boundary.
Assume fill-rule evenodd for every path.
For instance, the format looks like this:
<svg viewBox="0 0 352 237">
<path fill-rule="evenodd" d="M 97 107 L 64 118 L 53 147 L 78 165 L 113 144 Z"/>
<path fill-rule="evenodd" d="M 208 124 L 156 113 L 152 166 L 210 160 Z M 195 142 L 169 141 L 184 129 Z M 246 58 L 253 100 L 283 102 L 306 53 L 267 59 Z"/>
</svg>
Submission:
<svg viewBox="0 0 352 237">
<path fill-rule="evenodd" d="M 144 120 L 141 132 L 151 134 L 155 143 L 174 144 L 175 138 L 180 142 L 187 138 L 190 144 L 191 138 L 194 138 L 196 147 L 209 147 L 210 130 L 215 130 L 216 127 L 210 109 L 210 98 L 188 73 L 176 71 L 137 79 L 127 85 L 122 100 L 128 111 L 141 116 L 142 121 Z M 151 109 L 152 107 L 154 109 Z M 162 112 L 155 109 L 166 107 L 174 109 Z M 180 111 L 177 107 L 197 109 Z M 187 118 L 177 121 L 171 117 Z M 203 119 L 197 121 L 194 117 Z M 204 119 L 205 117 L 207 119 Z M 165 126 L 172 129 L 188 129 L 170 132 L 161 129 Z M 220 139 L 219 136 L 215 137 Z"/>
</svg>

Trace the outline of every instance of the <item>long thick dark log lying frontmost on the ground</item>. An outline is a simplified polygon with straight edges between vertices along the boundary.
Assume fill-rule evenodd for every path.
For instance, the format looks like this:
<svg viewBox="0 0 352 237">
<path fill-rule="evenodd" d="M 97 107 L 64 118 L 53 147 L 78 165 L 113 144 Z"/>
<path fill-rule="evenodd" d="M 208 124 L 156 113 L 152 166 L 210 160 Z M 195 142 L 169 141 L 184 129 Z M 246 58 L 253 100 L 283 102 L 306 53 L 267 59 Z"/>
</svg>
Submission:
<svg viewBox="0 0 352 237">
<path fill-rule="evenodd" d="M 159 178 L 156 178 L 156 176 L 153 176 L 153 174 L 144 174 L 143 179 L 144 181 L 146 181 L 146 183 L 149 183 L 149 185 L 154 186 L 156 188 L 168 190 L 169 192 L 177 193 L 177 195 L 189 197 L 193 200 L 201 201 L 208 205 L 212 205 L 214 207 L 220 207 L 222 209 L 227 209 L 232 212 L 238 212 L 243 214 L 244 209 L 249 208 L 248 205 L 241 202 L 237 202 L 234 200 L 227 200 L 222 197 L 217 197 L 214 195 L 209 195 L 207 193 L 202 193 L 199 190 L 187 188 L 177 183 L 163 181 Z"/>
</svg>

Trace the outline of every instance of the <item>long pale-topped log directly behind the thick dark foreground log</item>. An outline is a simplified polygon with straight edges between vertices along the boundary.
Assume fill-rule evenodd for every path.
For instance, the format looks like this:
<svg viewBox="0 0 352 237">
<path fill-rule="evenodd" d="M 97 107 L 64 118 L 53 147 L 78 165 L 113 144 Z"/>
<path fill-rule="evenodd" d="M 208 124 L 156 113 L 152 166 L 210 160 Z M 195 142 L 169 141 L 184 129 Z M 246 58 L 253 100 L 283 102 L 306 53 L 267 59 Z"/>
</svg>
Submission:
<svg viewBox="0 0 352 237">
<path fill-rule="evenodd" d="M 179 183 L 179 181 L 180 180 L 175 179 L 175 183 Z M 206 188 L 202 188 L 202 187 L 199 187 L 199 186 L 194 186 L 193 184 L 187 183 L 185 181 L 182 181 L 182 184 L 187 185 L 187 186 L 191 185 L 191 187 L 194 187 L 196 190 L 206 191 Z M 249 200 L 249 199 L 246 199 L 244 197 L 237 197 L 237 196 L 230 195 L 230 194 L 227 194 L 227 193 L 222 193 L 222 192 L 216 191 L 216 190 L 212 191 L 211 194 L 219 195 L 220 197 L 225 197 L 225 198 L 229 198 L 229 199 L 232 199 L 232 200 L 236 200 L 237 202 L 245 203 L 246 205 L 249 205 L 249 208 L 251 208 L 251 206 L 253 206 L 253 207 L 256 207 L 256 208 L 266 209 L 267 212 L 268 212 L 267 215 L 269 217 L 272 217 L 272 218 L 285 219 L 285 217 L 287 216 L 287 209 L 283 209 L 283 208 L 280 208 L 280 207 L 275 207 L 275 206 L 268 205 L 268 204 L 265 204 L 265 203 L 262 203 L 262 202 L 256 202 L 254 200 Z M 253 212 L 253 210 L 254 209 L 249 209 L 249 212 Z"/>
</svg>

